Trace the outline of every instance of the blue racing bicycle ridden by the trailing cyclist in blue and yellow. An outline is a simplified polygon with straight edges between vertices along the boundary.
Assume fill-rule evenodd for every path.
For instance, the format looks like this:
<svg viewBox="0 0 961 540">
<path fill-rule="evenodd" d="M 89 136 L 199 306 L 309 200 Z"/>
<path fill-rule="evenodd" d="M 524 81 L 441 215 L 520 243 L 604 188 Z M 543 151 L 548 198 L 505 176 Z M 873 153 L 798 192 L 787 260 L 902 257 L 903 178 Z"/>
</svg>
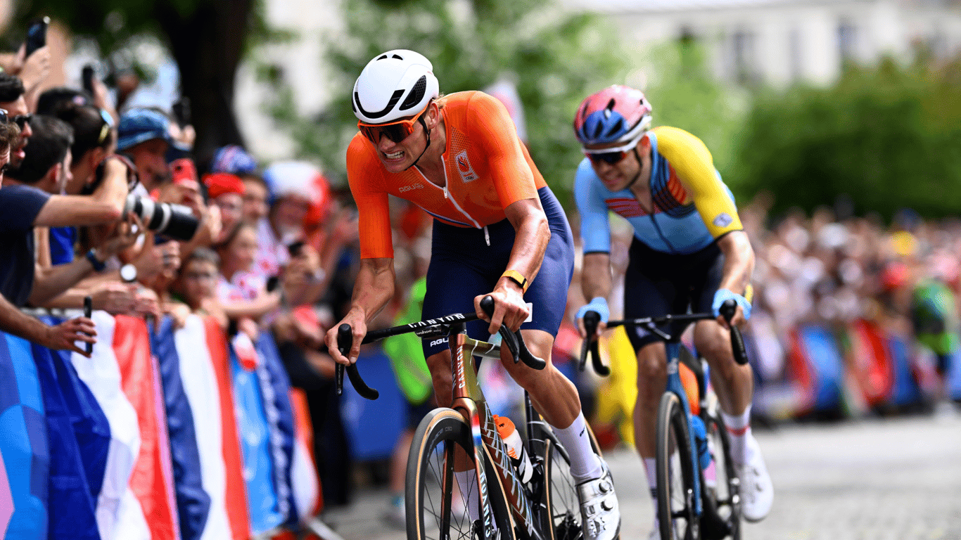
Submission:
<svg viewBox="0 0 961 540">
<path fill-rule="evenodd" d="M 736 309 L 733 300 L 721 307 L 728 323 Z M 662 540 L 741 538 L 740 482 L 730 456 L 727 428 L 721 418 L 717 397 L 708 390 L 706 363 L 680 342 L 680 335 L 687 325 L 714 318 L 713 313 L 684 313 L 607 323 L 608 329 L 642 327 L 663 338 L 667 347 L 667 388 L 657 407 L 655 454 L 657 521 Z M 596 333 L 600 320 L 596 311 L 584 314 L 584 330 L 588 336 Z M 672 333 L 658 328 L 663 326 L 669 326 Z M 730 328 L 734 359 L 745 364 L 748 356 L 741 332 L 734 326 Z M 584 340 L 581 365 L 586 361 L 588 351 L 598 365 L 600 355 L 596 339 Z M 694 373 L 698 382 L 696 413 L 688 404 L 680 379 L 681 363 Z M 707 471 L 712 475 L 705 475 Z"/>
</svg>

